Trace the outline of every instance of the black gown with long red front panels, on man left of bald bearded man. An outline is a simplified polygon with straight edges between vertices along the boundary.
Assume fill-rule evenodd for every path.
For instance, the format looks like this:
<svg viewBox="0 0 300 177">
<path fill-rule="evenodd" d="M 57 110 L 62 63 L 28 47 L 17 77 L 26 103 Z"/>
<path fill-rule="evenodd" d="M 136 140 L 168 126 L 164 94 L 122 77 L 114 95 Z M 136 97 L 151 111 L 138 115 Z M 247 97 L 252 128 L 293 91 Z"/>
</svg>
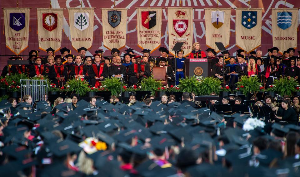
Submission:
<svg viewBox="0 0 300 177">
<path fill-rule="evenodd" d="M 100 82 L 103 81 L 104 78 L 108 78 L 108 76 L 109 76 L 108 66 L 105 65 L 104 63 L 100 63 L 100 64 L 93 63 L 90 66 L 90 69 L 88 70 L 88 75 L 89 75 L 89 78 L 90 78 L 90 85 L 92 85 L 93 87 L 98 88 L 98 86 L 100 85 Z M 104 78 L 102 80 L 95 79 L 95 76 L 98 77 L 98 78 L 103 76 Z"/>
</svg>

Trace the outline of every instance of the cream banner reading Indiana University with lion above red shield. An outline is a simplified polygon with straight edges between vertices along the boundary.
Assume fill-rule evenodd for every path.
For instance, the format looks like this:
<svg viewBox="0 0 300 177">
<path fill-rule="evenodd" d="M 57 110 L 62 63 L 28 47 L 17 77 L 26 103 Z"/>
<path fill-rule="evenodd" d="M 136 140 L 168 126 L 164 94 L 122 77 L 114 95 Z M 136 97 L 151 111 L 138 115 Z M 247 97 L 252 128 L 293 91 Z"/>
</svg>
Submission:
<svg viewBox="0 0 300 177">
<path fill-rule="evenodd" d="M 192 51 L 193 42 L 193 9 L 182 7 L 168 7 L 169 51 L 177 42 L 184 42 L 181 49 L 188 56 Z"/>
</svg>

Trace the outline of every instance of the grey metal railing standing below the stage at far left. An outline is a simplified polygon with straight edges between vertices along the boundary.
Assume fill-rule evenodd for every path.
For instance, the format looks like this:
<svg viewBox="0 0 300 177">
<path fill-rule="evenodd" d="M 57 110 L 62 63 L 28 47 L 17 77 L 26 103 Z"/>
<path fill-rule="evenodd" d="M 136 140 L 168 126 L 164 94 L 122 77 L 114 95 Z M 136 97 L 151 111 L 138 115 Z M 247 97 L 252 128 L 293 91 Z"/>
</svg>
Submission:
<svg viewBox="0 0 300 177">
<path fill-rule="evenodd" d="M 31 95 L 32 103 L 34 101 L 44 101 L 45 95 L 48 95 L 47 80 L 20 79 L 20 83 L 21 98 L 23 95 Z"/>
</svg>

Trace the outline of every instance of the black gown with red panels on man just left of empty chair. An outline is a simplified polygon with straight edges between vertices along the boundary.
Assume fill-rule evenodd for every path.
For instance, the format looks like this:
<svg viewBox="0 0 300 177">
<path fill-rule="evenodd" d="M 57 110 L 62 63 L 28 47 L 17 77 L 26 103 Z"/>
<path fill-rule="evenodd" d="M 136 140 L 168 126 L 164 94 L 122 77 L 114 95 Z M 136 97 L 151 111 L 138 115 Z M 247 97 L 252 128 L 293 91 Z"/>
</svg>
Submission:
<svg viewBox="0 0 300 177">
<path fill-rule="evenodd" d="M 136 77 L 135 74 L 144 72 L 144 75 Z M 149 63 L 141 63 L 141 64 L 132 64 L 129 66 L 128 69 L 128 76 L 129 76 L 129 86 L 137 84 L 140 79 L 148 78 L 151 75 L 150 72 L 150 64 Z"/>
</svg>

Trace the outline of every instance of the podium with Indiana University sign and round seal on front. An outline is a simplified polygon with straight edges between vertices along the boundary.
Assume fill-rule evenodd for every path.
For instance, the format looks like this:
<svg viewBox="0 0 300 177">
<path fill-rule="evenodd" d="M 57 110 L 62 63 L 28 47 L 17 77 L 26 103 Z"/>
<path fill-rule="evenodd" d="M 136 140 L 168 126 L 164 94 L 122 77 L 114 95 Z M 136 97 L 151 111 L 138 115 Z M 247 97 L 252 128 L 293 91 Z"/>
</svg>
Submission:
<svg viewBox="0 0 300 177">
<path fill-rule="evenodd" d="M 184 60 L 185 76 L 212 76 L 212 59 L 207 58 L 188 58 Z"/>
</svg>

